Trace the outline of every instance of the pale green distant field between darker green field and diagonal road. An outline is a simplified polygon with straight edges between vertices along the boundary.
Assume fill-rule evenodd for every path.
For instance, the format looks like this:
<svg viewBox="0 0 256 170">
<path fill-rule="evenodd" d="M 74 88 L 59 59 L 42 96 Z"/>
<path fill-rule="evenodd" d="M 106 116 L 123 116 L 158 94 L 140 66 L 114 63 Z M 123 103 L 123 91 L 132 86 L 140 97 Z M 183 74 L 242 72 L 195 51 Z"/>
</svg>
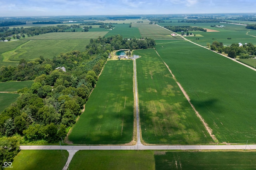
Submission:
<svg viewBox="0 0 256 170">
<path fill-rule="evenodd" d="M 143 23 L 132 23 L 132 27 L 138 27 L 142 38 L 153 38 L 153 39 L 179 39 L 179 36 L 173 37 L 170 34 L 172 32 L 161 28 L 157 25 L 149 24 L 148 21 Z"/>
</svg>

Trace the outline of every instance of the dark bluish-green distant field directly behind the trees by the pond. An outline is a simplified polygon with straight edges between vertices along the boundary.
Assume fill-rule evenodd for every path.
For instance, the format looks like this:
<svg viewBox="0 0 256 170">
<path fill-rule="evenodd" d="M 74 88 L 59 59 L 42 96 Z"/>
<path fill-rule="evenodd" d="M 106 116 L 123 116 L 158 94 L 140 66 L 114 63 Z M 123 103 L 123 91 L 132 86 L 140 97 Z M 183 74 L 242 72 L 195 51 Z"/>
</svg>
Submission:
<svg viewBox="0 0 256 170">
<path fill-rule="evenodd" d="M 109 30 L 107 36 L 121 35 L 123 38 L 141 38 L 137 27 L 129 27 L 130 24 L 114 24 L 115 28 Z M 104 29 L 104 28 L 102 28 Z"/>
</svg>

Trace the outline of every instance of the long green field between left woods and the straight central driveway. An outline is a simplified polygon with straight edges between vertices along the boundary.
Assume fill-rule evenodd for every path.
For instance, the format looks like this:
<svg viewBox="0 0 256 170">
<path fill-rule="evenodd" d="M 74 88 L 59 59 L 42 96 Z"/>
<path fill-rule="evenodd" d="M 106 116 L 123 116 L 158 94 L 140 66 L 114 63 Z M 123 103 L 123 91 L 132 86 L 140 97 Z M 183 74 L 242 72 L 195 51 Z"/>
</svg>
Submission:
<svg viewBox="0 0 256 170">
<path fill-rule="evenodd" d="M 133 136 L 133 63 L 108 61 L 68 136 L 75 144 L 124 144 Z"/>
</svg>

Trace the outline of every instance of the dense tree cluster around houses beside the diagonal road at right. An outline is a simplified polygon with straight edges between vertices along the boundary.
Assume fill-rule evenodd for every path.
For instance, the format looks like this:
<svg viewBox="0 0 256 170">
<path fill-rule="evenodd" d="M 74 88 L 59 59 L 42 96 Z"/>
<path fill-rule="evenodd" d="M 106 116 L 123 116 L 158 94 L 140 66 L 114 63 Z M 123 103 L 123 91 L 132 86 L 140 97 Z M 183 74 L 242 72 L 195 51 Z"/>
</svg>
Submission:
<svg viewBox="0 0 256 170">
<path fill-rule="evenodd" d="M 236 58 L 254 58 L 256 55 L 256 47 L 252 43 L 240 45 L 239 43 L 232 43 L 230 46 L 223 46 L 223 43 L 218 41 L 212 42 L 210 49 L 218 51 L 219 53 L 225 52 L 229 57 Z"/>
</svg>

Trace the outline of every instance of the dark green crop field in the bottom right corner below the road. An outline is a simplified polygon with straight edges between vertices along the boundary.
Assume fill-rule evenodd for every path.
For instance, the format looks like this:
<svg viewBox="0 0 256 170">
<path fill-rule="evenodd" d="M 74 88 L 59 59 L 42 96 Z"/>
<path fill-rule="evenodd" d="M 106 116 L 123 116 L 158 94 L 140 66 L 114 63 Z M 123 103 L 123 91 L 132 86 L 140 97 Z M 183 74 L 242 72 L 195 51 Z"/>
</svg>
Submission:
<svg viewBox="0 0 256 170">
<path fill-rule="evenodd" d="M 155 154 L 156 170 L 251 170 L 256 152 L 166 152 Z"/>
</svg>

